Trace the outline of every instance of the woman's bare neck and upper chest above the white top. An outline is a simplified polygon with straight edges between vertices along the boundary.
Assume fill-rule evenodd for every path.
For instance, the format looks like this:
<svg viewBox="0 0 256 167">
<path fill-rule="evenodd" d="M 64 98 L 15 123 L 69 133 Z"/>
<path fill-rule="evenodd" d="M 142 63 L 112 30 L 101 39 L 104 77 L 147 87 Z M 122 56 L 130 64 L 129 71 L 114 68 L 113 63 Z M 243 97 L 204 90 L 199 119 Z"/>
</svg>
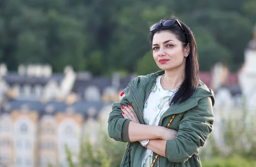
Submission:
<svg viewBox="0 0 256 167">
<path fill-rule="evenodd" d="M 174 90 L 179 88 L 184 79 L 184 71 L 165 71 L 162 76 L 162 88 L 164 90 Z"/>
</svg>

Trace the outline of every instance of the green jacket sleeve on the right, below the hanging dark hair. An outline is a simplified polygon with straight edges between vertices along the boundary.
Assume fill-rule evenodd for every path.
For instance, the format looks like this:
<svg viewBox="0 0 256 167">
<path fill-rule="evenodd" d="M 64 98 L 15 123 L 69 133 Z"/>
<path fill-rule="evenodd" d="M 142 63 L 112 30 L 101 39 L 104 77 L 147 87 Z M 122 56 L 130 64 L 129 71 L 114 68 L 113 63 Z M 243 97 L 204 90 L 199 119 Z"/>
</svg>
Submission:
<svg viewBox="0 0 256 167">
<path fill-rule="evenodd" d="M 166 158 L 171 162 L 187 161 L 200 146 L 204 146 L 213 130 L 213 122 L 212 99 L 198 100 L 198 105 L 184 114 L 176 138 L 166 142 Z"/>
</svg>

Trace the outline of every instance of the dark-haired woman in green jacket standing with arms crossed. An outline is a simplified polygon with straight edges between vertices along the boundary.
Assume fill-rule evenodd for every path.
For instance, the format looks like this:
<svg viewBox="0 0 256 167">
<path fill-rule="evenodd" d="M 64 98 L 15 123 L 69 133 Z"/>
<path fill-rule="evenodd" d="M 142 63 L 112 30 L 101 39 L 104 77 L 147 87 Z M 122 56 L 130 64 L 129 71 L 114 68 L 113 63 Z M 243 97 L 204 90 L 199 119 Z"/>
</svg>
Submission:
<svg viewBox="0 0 256 167">
<path fill-rule="evenodd" d="M 150 39 L 162 70 L 132 80 L 108 120 L 109 136 L 128 142 L 121 167 L 201 167 L 214 96 L 198 77 L 195 38 L 175 18 L 151 25 Z"/>
</svg>

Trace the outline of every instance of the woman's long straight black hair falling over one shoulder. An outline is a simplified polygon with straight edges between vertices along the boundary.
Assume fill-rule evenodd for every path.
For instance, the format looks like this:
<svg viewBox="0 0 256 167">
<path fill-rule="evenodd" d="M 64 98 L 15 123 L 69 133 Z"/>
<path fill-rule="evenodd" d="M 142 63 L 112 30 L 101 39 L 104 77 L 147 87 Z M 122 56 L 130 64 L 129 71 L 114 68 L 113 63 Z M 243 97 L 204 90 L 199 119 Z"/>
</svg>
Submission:
<svg viewBox="0 0 256 167">
<path fill-rule="evenodd" d="M 177 17 L 171 18 L 178 20 Z M 196 91 L 199 84 L 198 53 L 196 48 L 195 37 L 190 28 L 186 24 L 184 24 L 180 20 L 178 21 L 180 22 L 181 26 L 186 32 L 184 32 L 180 28 L 180 25 L 177 23 L 177 21 L 173 25 L 167 27 L 163 27 L 162 24 L 160 24 L 156 30 L 150 32 L 151 44 L 154 34 L 161 31 L 169 31 L 175 34 L 177 39 L 183 43 L 183 48 L 185 48 L 189 43 L 190 52 L 188 57 L 186 57 L 185 77 L 182 84 L 180 85 L 179 90 L 175 93 L 172 100 L 169 102 L 169 105 L 184 102 Z"/>
</svg>

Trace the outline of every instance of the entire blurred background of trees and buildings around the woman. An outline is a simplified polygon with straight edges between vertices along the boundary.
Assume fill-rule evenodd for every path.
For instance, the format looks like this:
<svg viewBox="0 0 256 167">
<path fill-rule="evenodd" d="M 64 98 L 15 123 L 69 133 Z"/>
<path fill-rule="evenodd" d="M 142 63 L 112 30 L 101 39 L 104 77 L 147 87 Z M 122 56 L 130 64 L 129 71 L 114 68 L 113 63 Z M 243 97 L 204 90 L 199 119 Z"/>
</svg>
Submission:
<svg viewBox="0 0 256 167">
<path fill-rule="evenodd" d="M 256 167 L 256 0 L 1 0 L 0 167 L 119 167 L 111 105 L 159 70 L 149 26 L 170 15 L 215 92 L 203 167 Z"/>
</svg>

